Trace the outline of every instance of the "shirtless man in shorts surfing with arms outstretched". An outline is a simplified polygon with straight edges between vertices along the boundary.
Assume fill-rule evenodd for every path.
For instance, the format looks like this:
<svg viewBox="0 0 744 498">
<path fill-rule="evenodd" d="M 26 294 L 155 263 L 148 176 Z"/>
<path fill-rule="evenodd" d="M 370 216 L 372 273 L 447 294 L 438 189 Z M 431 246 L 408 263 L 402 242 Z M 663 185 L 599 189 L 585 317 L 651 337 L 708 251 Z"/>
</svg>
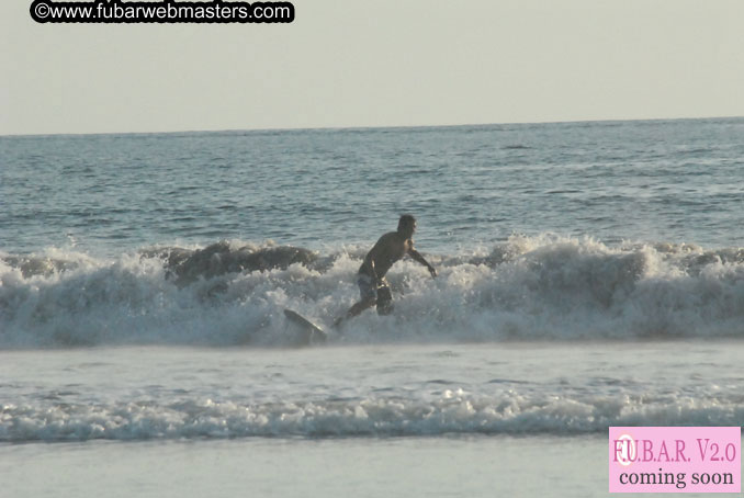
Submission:
<svg viewBox="0 0 744 498">
<path fill-rule="evenodd" d="M 334 322 L 334 327 L 338 327 L 349 318 L 352 318 L 364 309 L 377 305 L 377 313 L 380 315 L 387 315 L 393 312 L 393 294 L 390 290 L 390 284 L 385 279 L 385 273 L 404 256 L 410 256 L 414 261 L 424 264 L 431 273 L 431 276 L 437 276 L 437 270 L 424 259 L 424 257 L 414 249 L 414 240 L 412 237 L 416 231 L 416 218 L 409 214 L 404 214 L 398 220 L 397 231 L 390 231 L 377 240 L 370 252 L 367 253 L 364 262 L 359 268 L 357 276 L 357 284 L 359 285 L 359 293 L 361 299 L 349 308 L 346 315 L 340 316 Z"/>
</svg>

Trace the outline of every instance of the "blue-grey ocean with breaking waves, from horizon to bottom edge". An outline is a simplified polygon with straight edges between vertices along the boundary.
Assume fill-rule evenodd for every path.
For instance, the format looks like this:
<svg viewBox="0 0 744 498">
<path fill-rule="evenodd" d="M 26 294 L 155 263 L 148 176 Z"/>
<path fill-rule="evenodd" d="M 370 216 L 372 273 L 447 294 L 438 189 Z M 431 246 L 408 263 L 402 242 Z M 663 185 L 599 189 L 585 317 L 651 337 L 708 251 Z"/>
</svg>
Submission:
<svg viewBox="0 0 744 498">
<path fill-rule="evenodd" d="M 0 496 L 605 496 L 744 425 L 743 185 L 744 118 L 0 137 Z"/>
</svg>

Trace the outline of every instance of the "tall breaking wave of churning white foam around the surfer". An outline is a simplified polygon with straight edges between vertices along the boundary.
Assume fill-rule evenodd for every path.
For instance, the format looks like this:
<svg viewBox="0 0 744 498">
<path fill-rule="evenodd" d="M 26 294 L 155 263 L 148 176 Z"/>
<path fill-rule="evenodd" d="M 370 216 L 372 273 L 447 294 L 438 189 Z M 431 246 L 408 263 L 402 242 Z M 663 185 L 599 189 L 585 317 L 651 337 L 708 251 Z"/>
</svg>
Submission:
<svg viewBox="0 0 744 498">
<path fill-rule="evenodd" d="M 0 348 L 292 346 L 282 309 L 328 326 L 358 298 L 362 254 L 240 242 L 114 259 L 0 254 Z M 744 337 L 739 248 L 543 235 L 430 259 L 438 279 L 397 263 L 388 274 L 394 314 L 368 312 L 334 340 Z"/>
</svg>

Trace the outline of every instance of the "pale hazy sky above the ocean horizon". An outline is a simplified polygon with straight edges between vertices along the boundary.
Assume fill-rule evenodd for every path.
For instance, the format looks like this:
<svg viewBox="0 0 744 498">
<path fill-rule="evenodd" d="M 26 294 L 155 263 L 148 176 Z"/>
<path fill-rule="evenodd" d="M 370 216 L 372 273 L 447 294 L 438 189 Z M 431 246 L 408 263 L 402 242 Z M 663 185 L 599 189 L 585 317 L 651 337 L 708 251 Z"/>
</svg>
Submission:
<svg viewBox="0 0 744 498">
<path fill-rule="evenodd" d="M 0 134 L 744 115 L 743 0 L 295 0 L 291 24 L 0 7 Z"/>
</svg>

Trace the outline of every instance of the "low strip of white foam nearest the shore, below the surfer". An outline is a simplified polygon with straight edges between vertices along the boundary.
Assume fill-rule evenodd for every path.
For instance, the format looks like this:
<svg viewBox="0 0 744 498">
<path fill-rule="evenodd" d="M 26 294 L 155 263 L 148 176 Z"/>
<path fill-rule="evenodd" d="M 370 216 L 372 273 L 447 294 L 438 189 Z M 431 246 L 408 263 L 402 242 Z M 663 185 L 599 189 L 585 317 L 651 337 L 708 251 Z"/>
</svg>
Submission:
<svg viewBox="0 0 744 498">
<path fill-rule="evenodd" d="M 432 399 L 7 404 L 0 407 L 0 441 L 578 434 L 661 421 L 670 426 L 737 426 L 742 419 L 744 407 L 725 396 L 565 396 L 510 388 L 495 395 L 444 391 Z"/>
</svg>

